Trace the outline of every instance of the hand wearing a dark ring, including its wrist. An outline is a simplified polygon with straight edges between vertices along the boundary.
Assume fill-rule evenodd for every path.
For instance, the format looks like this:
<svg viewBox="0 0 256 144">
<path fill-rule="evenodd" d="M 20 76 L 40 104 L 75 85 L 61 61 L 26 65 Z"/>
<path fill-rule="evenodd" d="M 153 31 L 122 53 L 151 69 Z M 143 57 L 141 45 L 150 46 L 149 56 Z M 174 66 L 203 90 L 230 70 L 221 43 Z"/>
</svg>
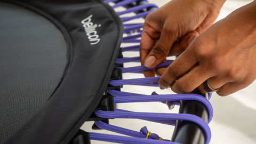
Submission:
<svg viewBox="0 0 256 144">
<path fill-rule="evenodd" d="M 159 79 L 177 93 L 203 88 L 206 80 L 225 96 L 256 79 L 256 1 L 245 5 L 198 36 Z"/>
</svg>

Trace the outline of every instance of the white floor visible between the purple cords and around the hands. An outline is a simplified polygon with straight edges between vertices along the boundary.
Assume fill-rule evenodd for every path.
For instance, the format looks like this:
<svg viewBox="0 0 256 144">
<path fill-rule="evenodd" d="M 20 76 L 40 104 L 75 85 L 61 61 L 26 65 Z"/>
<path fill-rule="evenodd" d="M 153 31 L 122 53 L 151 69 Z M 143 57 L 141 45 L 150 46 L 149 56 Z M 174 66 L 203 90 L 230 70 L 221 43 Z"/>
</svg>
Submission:
<svg viewBox="0 0 256 144">
<path fill-rule="evenodd" d="M 153 1 L 159 6 L 167 3 L 166 0 Z M 238 7 L 252 2 L 242 0 L 228 0 L 222 7 L 221 13 L 217 20 L 225 18 L 230 12 L 234 11 Z M 125 53 L 125 56 L 129 57 L 134 53 Z M 133 64 L 131 64 L 133 65 Z M 134 66 L 134 65 L 133 65 Z M 143 77 L 140 74 L 125 74 L 124 79 Z M 210 102 L 214 109 L 213 120 L 209 124 L 212 132 L 211 144 L 219 143 L 256 143 L 256 97 L 255 97 L 256 82 L 254 82 L 246 89 L 229 95 L 228 97 L 220 97 L 217 94 L 213 94 Z M 169 90 L 160 90 L 158 87 L 146 87 L 146 86 L 124 86 L 122 91 L 151 94 L 156 91 L 159 94 L 172 93 Z M 127 109 L 132 111 L 147 111 L 147 112 L 159 112 L 159 113 L 177 113 L 179 107 L 175 107 L 173 110 L 169 110 L 166 105 L 159 102 L 150 103 L 125 103 L 117 105 L 118 108 Z M 92 122 L 86 122 L 82 129 L 87 132 L 100 132 L 111 133 L 104 130 L 91 130 Z M 110 124 L 126 127 L 135 131 L 139 131 L 141 127 L 147 126 L 148 130 L 153 133 L 157 133 L 164 139 L 171 139 L 173 133 L 173 126 L 156 124 L 146 121 L 140 121 L 137 119 L 111 119 Z M 92 144 L 107 143 L 100 141 L 92 141 Z"/>
</svg>

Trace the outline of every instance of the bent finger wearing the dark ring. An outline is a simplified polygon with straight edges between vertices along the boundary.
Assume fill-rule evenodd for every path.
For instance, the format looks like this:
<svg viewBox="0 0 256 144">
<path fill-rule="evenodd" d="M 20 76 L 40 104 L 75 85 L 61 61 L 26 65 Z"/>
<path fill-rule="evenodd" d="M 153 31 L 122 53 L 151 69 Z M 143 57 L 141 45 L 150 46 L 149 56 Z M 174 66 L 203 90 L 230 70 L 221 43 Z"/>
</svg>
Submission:
<svg viewBox="0 0 256 144">
<path fill-rule="evenodd" d="M 225 81 L 225 78 L 221 78 L 217 76 L 210 77 L 206 79 L 201 85 L 198 86 L 198 90 L 202 93 L 209 93 L 211 92 L 211 89 L 218 90 L 221 86 L 223 86 L 226 83 L 227 82 Z"/>
</svg>

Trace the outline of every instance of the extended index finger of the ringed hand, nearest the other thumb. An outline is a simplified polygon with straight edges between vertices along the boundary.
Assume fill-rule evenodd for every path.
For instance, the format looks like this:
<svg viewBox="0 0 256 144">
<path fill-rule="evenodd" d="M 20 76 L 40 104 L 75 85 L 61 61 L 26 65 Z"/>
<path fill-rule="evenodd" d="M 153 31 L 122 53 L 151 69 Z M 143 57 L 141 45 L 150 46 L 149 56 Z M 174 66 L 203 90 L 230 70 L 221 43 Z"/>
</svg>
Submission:
<svg viewBox="0 0 256 144">
<path fill-rule="evenodd" d="M 171 86 L 175 82 L 175 80 L 188 73 L 188 71 L 194 68 L 196 64 L 197 59 L 195 58 L 193 53 L 191 53 L 190 50 L 187 49 L 171 63 L 167 70 L 165 70 L 164 74 L 158 82 L 160 88 L 163 89 L 163 87 Z"/>
</svg>

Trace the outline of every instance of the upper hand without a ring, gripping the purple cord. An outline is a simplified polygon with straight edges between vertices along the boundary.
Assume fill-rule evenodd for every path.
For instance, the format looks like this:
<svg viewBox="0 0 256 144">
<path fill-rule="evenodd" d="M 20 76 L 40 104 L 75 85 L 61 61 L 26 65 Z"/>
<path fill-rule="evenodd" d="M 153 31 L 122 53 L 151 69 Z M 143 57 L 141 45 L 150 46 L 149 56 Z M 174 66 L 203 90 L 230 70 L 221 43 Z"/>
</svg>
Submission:
<svg viewBox="0 0 256 144">
<path fill-rule="evenodd" d="M 156 67 L 168 54 L 180 54 L 218 17 L 226 0 L 172 0 L 146 17 L 140 42 L 141 65 Z M 158 69 L 162 75 L 165 69 Z M 143 71 L 146 77 L 154 70 Z"/>
</svg>

